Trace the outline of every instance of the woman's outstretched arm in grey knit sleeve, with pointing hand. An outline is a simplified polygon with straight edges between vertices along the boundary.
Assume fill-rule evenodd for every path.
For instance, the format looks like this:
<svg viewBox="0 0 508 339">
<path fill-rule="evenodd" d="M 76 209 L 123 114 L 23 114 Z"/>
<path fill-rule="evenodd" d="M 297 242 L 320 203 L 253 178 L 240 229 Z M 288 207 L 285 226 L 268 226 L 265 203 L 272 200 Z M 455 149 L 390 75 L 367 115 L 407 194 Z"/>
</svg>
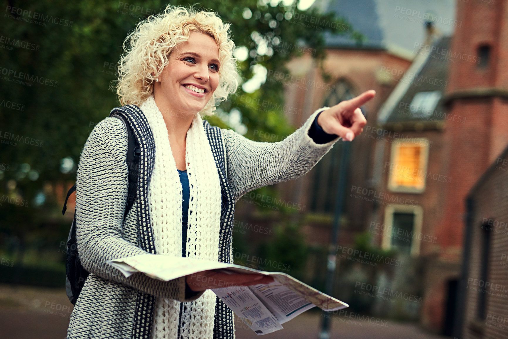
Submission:
<svg viewBox="0 0 508 339">
<path fill-rule="evenodd" d="M 316 110 L 301 128 L 279 142 L 252 141 L 232 130 L 222 129 L 228 179 L 235 201 L 257 188 L 303 176 L 340 138 L 352 141 L 366 124 L 359 107 L 374 95 L 373 90 L 366 91 L 331 108 Z M 326 133 L 338 136 L 323 144 L 314 142 L 309 136 L 314 118 L 320 112 L 319 126 Z"/>
</svg>

